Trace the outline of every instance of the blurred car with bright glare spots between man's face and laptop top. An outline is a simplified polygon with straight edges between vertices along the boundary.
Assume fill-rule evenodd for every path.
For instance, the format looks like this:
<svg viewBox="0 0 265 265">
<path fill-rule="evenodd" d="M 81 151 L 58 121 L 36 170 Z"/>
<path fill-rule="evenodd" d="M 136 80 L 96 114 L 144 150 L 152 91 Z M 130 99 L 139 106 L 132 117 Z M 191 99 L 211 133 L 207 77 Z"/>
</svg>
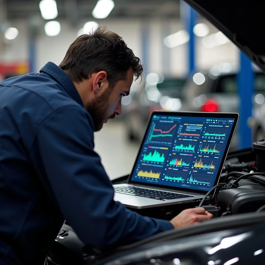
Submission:
<svg viewBox="0 0 265 265">
<path fill-rule="evenodd" d="M 185 78 L 149 73 L 142 86 L 122 100 L 122 116 L 130 141 L 142 140 L 148 119 L 154 110 L 178 111 L 181 108 Z"/>
</svg>

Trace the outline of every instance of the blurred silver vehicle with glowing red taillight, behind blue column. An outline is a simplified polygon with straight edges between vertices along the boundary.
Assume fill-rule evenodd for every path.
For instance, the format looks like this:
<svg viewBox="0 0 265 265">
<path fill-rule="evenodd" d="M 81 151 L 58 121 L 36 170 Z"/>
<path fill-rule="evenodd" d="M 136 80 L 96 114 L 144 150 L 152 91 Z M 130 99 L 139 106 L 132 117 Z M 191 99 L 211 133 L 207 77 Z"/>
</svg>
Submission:
<svg viewBox="0 0 265 265">
<path fill-rule="evenodd" d="M 254 70 L 254 94 L 253 94 L 253 113 L 255 117 L 261 119 L 265 110 L 262 108 L 265 95 L 265 75 L 259 71 L 255 65 Z M 202 111 L 202 112 L 238 112 L 240 99 L 237 91 L 237 74 L 236 65 L 222 63 L 213 66 L 210 71 L 200 71 L 190 77 L 182 92 L 182 107 L 180 111 Z M 257 109 L 259 111 L 257 112 Z M 257 115 L 258 114 L 258 115 Z M 240 121 L 239 121 L 240 122 Z M 253 120 L 252 120 L 253 123 Z M 265 126 L 265 122 L 263 122 Z M 264 135 L 264 130 L 257 127 L 253 132 L 253 140 Z M 231 149 L 238 148 L 238 127 L 235 132 Z"/>
</svg>

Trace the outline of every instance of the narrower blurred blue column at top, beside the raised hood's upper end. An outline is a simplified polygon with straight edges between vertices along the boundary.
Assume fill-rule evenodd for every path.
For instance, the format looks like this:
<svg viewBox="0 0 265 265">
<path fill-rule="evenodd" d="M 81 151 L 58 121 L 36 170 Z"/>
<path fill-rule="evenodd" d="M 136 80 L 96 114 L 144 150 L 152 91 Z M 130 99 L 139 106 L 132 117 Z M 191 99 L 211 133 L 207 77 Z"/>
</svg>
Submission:
<svg viewBox="0 0 265 265">
<path fill-rule="evenodd" d="M 180 1 L 180 16 L 184 24 L 184 29 L 189 33 L 189 42 L 188 42 L 188 75 L 194 73 L 195 71 L 195 36 L 193 33 L 193 28 L 196 25 L 198 18 L 198 13 L 191 8 L 184 1 Z"/>
</svg>

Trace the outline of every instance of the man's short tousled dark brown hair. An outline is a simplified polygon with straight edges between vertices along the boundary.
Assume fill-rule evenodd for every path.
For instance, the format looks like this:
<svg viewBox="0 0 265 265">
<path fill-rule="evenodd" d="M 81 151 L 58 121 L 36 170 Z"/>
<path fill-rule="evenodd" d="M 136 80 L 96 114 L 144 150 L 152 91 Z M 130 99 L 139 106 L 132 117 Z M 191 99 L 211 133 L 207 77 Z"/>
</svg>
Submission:
<svg viewBox="0 0 265 265">
<path fill-rule="evenodd" d="M 135 80 L 142 78 L 143 66 L 133 51 L 116 33 L 98 27 L 78 37 L 69 47 L 59 67 L 74 82 L 90 78 L 93 72 L 106 71 L 110 87 L 126 79 L 132 68 Z"/>
</svg>

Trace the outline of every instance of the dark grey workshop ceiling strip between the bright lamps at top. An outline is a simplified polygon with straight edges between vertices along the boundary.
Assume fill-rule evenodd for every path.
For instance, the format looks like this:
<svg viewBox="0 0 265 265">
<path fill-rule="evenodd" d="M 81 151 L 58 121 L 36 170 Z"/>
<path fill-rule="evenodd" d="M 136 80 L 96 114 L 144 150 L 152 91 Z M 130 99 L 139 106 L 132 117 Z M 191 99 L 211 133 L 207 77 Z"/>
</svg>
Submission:
<svg viewBox="0 0 265 265">
<path fill-rule="evenodd" d="M 40 15 L 38 0 L 2 0 L 6 9 L 6 18 L 28 19 Z M 56 0 L 57 19 L 69 19 L 73 22 L 81 19 L 93 19 L 92 10 L 97 0 Z M 179 0 L 114 0 L 115 7 L 108 18 L 178 18 Z"/>
</svg>

